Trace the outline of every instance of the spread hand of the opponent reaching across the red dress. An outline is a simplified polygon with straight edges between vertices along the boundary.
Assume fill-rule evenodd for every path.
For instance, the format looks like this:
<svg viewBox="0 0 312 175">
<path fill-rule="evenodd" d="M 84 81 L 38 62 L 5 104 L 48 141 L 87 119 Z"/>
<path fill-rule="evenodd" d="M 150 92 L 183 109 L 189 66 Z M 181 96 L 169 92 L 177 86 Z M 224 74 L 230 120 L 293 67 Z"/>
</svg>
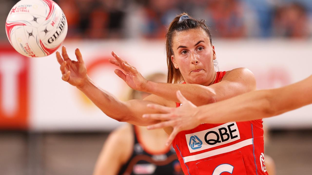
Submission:
<svg viewBox="0 0 312 175">
<path fill-rule="evenodd" d="M 166 145 L 169 145 L 175 136 L 183 130 L 190 130 L 198 125 L 200 121 L 197 120 L 195 115 L 199 112 L 197 106 L 192 102 L 188 101 L 180 91 L 177 91 L 177 97 L 179 101 L 183 104 L 180 107 L 172 108 L 161 105 L 149 104 L 148 107 L 156 109 L 163 112 L 163 114 L 144 114 L 143 118 L 149 118 L 154 120 L 161 120 L 154 125 L 149 125 L 147 129 L 157 129 L 157 128 L 166 128 L 173 127 L 173 131 L 170 134 Z"/>
</svg>

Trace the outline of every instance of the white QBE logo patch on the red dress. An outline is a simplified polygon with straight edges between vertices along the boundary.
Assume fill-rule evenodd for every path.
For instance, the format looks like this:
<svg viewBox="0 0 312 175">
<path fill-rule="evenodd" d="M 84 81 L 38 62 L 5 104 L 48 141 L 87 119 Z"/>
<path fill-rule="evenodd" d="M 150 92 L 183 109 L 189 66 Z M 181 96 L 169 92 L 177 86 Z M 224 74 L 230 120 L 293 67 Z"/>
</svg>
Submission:
<svg viewBox="0 0 312 175">
<path fill-rule="evenodd" d="M 194 153 L 231 143 L 241 137 L 236 122 L 229 122 L 208 130 L 186 134 L 185 138 L 190 153 Z"/>
</svg>

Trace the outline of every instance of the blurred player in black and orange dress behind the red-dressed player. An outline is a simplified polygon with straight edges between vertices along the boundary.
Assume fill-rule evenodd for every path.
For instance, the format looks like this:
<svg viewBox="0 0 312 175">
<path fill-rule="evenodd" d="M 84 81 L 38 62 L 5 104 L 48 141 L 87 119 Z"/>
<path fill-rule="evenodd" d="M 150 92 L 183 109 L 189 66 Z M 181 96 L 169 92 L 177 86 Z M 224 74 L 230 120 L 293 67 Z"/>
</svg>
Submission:
<svg viewBox="0 0 312 175">
<path fill-rule="evenodd" d="M 166 75 L 154 73 L 146 78 L 166 82 Z M 149 93 L 131 89 L 129 99 L 144 99 Z M 112 131 L 105 141 L 93 175 L 183 175 L 178 157 L 165 146 L 168 135 L 162 130 L 125 124 Z"/>
</svg>

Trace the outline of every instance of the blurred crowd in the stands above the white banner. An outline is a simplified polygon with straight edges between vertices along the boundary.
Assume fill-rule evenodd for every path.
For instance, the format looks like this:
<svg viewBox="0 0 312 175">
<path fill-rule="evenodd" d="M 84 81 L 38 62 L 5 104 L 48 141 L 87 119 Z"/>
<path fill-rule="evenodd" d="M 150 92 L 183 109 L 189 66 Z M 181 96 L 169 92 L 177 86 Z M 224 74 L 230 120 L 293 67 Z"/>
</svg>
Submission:
<svg viewBox="0 0 312 175">
<path fill-rule="evenodd" d="M 213 37 L 309 38 L 311 0 L 55 0 L 68 38 L 164 38 L 173 18 L 205 19 Z"/>
</svg>

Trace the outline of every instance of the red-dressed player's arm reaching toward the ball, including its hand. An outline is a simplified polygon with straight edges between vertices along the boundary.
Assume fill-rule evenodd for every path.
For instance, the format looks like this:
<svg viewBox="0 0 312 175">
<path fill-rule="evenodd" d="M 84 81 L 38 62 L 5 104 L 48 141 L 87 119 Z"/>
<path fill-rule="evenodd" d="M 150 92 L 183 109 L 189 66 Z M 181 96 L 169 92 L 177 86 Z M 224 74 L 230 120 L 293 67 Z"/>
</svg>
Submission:
<svg viewBox="0 0 312 175">
<path fill-rule="evenodd" d="M 149 103 L 166 105 L 166 100 L 155 95 L 151 95 L 144 100 L 130 100 L 127 102 L 118 100 L 109 92 L 98 87 L 88 77 L 79 49 L 76 49 L 75 54 L 77 61 L 73 61 L 68 57 L 65 47 L 62 48 L 62 56 L 59 52 L 56 52 L 56 58 L 61 65 L 60 69 L 64 81 L 80 89 L 107 116 L 117 121 L 126 121 L 135 125 L 148 125 L 156 122 L 142 118 L 144 113 L 157 112 L 146 106 Z"/>
</svg>

